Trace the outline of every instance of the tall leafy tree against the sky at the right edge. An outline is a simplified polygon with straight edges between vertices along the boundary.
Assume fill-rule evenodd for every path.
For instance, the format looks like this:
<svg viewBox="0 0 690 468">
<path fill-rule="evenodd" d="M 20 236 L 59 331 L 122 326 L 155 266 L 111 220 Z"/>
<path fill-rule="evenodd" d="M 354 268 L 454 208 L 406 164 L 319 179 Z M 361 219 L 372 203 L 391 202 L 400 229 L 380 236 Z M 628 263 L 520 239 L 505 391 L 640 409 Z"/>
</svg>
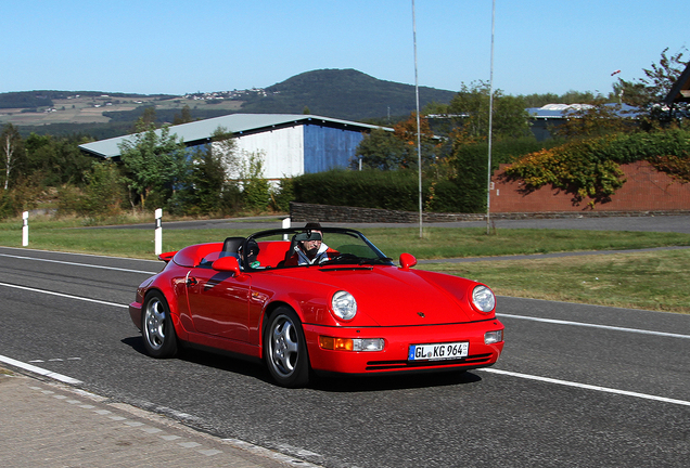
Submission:
<svg viewBox="0 0 690 468">
<path fill-rule="evenodd" d="M 651 68 L 642 68 L 646 78 L 632 81 L 618 78 L 618 86 L 614 87 L 621 90 L 624 103 L 642 112 L 639 118 L 646 129 L 667 126 L 682 117 L 688 117 L 690 113 L 690 106 L 687 103 L 676 105 L 670 110 L 666 110 L 662 105 L 686 68 L 687 62 L 683 62 L 683 54 L 688 50 L 682 48 L 680 52 L 670 56 L 667 52 L 668 48 L 664 49 L 659 63 L 652 63 Z"/>
</svg>

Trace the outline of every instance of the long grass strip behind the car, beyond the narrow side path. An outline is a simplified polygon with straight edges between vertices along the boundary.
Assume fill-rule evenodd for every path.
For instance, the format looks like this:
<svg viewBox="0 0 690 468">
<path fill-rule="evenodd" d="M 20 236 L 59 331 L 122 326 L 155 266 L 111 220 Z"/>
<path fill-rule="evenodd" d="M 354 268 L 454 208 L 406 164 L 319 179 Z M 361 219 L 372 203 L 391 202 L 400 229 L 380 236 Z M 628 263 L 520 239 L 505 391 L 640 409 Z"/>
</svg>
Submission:
<svg viewBox="0 0 690 468">
<path fill-rule="evenodd" d="M 163 230 L 163 249 L 178 250 L 190 244 L 221 242 L 231 235 L 247 235 L 253 230 Z M 418 259 L 495 257 L 559 251 L 626 250 L 647 247 L 690 246 L 690 235 L 579 230 L 502 230 L 486 235 L 481 227 L 430 227 L 424 238 L 410 227 L 365 229 L 362 232 L 384 253 L 397 259 L 407 251 Z M 327 240 L 328 242 L 328 240 Z M 20 247 L 22 223 L 0 223 L 0 245 Z M 154 258 L 153 222 L 151 229 L 82 227 L 78 220 L 35 221 L 29 224 L 29 247 L 99 253 L 117 257 Z"/>
</svg>

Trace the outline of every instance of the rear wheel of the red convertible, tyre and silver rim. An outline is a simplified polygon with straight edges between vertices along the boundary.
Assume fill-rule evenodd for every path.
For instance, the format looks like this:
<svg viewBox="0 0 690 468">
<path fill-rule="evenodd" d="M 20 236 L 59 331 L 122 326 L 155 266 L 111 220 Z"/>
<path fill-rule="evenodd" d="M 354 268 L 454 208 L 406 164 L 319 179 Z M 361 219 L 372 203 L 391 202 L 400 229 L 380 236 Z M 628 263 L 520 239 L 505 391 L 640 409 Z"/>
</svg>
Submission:
<svg viewBox="0 0 690 468">
<path fill-rule="evenodd" d="M 141 336 L 146 353 L 153 358 L 173 358 L 177 353 L 170 308 L 161 292 L 146 295 L 141 313 Z"/>
</svg>

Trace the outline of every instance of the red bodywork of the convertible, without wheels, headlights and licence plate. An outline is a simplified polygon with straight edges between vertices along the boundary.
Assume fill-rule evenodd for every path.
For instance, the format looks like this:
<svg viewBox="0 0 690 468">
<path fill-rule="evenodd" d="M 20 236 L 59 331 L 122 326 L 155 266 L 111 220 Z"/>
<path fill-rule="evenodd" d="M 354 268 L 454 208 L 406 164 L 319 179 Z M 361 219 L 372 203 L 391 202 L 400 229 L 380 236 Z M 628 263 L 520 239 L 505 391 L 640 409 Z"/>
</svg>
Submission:
<svg viewBox="0 0 690 468">
<path fill-rule="evenodd" d="M 289 244 L 263 243 L 261 264 L 277 265 Z M 129 306 L 135 325 L 141 329 L 144 297 L 157 290 L 168 302 L 179 340 L 253 358 L 263 358 L 268 314 L 277 307 L 290 307 L 302 321 L 315 370 L 474 368 L 494 364 L 502 351 L 502 339 L 485 344 L 485 333 L 502 333 L 503 325 L 495 311 L 483 313 L 472 306 L 472 290 L 480 283 L 391 264 L 270 268 L 234 274 L 210 268 L 221 249 L 222 243 L 201 244 L 162 256 L 168 263 L 139 286 Z M 406 265 L 410 258 L 405 258 Z M 331 310 L 331 298 L 338 290 L 356 298 L 358 312 L 350 321 Z M 373 352 L 325 350 L 320 336 L 382 338 L 385 346 Z M 469 356 L 462 360 L 408 360 L 410 344 L 459 341 L 469 342 Z"/>
</svg>

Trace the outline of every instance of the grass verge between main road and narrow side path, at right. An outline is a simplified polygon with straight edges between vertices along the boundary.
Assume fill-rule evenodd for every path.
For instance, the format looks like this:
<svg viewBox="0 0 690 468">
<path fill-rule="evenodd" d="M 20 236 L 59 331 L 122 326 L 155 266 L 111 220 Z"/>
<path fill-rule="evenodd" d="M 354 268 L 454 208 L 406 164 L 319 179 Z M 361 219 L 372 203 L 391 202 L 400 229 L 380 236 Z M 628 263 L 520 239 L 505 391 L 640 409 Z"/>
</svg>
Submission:
<svg viewBox="0 0 690 468">
<path fill-rule="evenodd" d="M 481 281 L 497 295 L 690 313 L 690 249 L 419 269 Z"/>
</svg>

